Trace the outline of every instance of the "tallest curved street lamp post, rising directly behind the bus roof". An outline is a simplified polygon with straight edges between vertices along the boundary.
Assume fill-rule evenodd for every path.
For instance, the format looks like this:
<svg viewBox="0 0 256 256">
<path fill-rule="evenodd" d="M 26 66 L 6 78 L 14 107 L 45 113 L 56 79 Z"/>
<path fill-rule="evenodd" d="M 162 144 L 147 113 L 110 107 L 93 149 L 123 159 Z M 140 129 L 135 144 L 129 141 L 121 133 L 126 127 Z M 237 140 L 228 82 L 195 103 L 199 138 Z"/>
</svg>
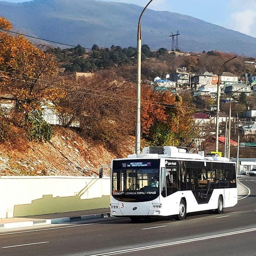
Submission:
<svg viewBox="0 0 256 256">
<path fill-rule="evenodd" d="M 138 22 L 138 33 L 137 33 L 137 117 L 136 117 L 136 136 L 135 136 L 135 153 L 140 153 L 140 83 L 141 83 L 141 27 L 140 20 L 148 5 L 153 0 L 149 1 L 143 9 L 139 17 Z"/>
</svg>

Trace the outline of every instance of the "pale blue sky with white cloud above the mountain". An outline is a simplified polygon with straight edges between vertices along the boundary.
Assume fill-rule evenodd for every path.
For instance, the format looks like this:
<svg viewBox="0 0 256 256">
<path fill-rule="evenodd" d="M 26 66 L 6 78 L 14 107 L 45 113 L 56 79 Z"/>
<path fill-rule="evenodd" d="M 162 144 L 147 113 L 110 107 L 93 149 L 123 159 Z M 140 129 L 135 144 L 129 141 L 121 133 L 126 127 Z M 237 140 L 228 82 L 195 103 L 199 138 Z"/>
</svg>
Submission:
<svg viewBox="0 0 256 256">
<path fill-rule="evenodd" d="M 28 2 L 28 0 L 5 1 Z M 149 2 L 149 0 L 100 1 L 123 2 L 143 7 Z M 156 11 L 171 11 L 186 14 L 256 37 L 256 0 L 154 0 L 148 8 Z"/>
</svg>

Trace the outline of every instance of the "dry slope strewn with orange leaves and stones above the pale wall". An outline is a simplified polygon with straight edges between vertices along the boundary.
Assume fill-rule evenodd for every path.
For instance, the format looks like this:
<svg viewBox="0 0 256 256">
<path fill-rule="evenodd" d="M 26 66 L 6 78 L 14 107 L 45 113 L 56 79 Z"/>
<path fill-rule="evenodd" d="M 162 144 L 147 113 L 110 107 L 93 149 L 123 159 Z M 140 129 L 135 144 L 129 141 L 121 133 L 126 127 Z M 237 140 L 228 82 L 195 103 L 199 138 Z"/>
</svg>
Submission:
<svg viewBox="0 0 256 256">
<path fill-rule="evenodd" d="M 102 143 L 82 139 L 71 129 L 56 126 L 54 131 L 50 142 L 30 142 L 25 152 L 9 150 L 0 144 L 0 176 L 97 176 L 101 164 L 134 153 L 133 137 L 123 142 L 118 151 L 110 152 Z M 109 175 L 109 170 L 104 174 Z"/>
</svg>

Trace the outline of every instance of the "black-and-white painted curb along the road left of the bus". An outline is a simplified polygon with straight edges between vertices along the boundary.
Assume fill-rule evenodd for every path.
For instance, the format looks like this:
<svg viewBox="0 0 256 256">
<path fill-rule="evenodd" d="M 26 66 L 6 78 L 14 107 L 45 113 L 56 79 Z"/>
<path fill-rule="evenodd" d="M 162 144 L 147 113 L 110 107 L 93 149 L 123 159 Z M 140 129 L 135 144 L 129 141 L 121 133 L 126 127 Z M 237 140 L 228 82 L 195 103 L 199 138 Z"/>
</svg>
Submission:
<svg viewBox="0 0 256 256">
<path fill-rule="evenodd" d="M 55 219 L 20 221 L 20 222 L 0 224 L 0 230 L 16 229 L 16 228 L 32 227 L 32 226 L 43 226 L 43 225 L 49 225 L 49 224 L 58 224 L 58 223 L 78 221 L 78 220 L 93 220 L 93 219 L 108 218 L 108 217 L 111 217 L 109 212 L 108 213 L 100 213 L 100 214 L 81 215 L 81 216 L 76 216 L 76 217 L 63 217 L 63 218 L 55 218 Z"/>
</svg>

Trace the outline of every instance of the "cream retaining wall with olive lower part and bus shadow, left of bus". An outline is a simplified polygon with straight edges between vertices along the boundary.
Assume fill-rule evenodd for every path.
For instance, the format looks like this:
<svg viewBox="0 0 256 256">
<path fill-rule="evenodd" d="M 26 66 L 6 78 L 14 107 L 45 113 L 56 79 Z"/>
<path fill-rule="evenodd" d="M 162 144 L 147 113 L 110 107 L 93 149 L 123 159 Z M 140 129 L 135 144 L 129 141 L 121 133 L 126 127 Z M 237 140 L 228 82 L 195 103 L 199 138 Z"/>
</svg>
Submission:
<svg viewBox="0 0 256 256">
<path fill-rule="evenodd" d="M 0 218 L 108 208 L 110 178 L 0 176 Z"/>
</svg>

